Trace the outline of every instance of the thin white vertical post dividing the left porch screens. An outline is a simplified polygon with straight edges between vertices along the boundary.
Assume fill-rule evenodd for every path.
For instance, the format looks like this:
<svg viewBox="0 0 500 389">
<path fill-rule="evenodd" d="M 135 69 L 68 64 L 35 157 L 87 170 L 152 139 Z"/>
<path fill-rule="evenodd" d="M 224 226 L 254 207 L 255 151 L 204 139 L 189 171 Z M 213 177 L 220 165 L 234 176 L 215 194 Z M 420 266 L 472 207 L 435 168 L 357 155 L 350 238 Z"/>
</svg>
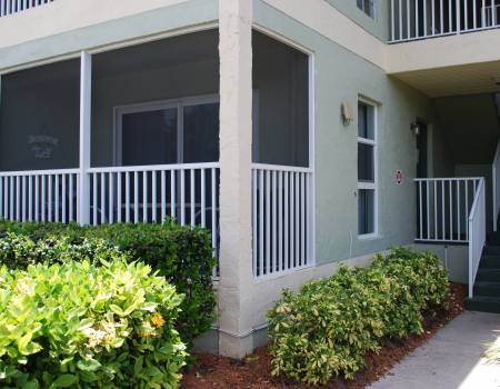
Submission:
<svg viewBox="0 0 500 389">
<path fill-rule="evenodd" d="M 80 69 L 80 186 L 79 216 L 80 225 L 90 222 L 90 137 L 91 137 L 91 101 L 92 101 L 92 56 L 86 51 L 81 53 Z M 70 199 L 72 201 L 72 199 Z"/>
</svg>

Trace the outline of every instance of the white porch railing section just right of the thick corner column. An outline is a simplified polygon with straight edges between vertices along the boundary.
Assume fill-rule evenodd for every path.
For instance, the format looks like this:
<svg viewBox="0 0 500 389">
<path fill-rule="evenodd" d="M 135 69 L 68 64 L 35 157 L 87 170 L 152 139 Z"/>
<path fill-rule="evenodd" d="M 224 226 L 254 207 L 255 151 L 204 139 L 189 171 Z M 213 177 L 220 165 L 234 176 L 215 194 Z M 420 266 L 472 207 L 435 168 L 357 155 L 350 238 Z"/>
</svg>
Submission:
<svg viewBox="0 0 500 389">
<path fill-rule="evenodd" d="M 312 265 L 312 170 L 252 164 L 253 275 Z"/>
</svg>

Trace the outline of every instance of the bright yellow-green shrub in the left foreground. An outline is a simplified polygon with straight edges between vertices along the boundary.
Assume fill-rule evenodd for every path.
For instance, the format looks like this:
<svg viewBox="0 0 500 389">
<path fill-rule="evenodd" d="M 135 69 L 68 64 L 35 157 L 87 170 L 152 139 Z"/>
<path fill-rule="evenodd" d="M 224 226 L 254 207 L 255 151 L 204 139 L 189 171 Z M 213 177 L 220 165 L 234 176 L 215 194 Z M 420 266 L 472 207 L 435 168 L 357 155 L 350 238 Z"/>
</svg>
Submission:
<svg viewBox="0 0 500 389">
<path fill-rule="evenodd" d="M 182 297 L 124 257 L 0 268 L 0 387 L 178 387 Z"/>
</svg>

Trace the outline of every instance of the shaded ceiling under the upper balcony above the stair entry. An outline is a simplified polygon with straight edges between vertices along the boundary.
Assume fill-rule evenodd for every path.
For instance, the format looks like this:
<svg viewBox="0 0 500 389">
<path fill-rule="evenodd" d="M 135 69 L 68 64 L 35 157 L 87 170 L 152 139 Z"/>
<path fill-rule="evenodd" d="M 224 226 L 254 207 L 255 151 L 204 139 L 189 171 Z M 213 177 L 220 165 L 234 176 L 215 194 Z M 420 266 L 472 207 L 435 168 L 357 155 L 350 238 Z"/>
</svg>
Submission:
<svg viewBox="0 0 500 389">
<path fill-rule="evenodd" d="M 392 73 L 431 98 L 500 92 L 500 61 Z"/>
</svg>

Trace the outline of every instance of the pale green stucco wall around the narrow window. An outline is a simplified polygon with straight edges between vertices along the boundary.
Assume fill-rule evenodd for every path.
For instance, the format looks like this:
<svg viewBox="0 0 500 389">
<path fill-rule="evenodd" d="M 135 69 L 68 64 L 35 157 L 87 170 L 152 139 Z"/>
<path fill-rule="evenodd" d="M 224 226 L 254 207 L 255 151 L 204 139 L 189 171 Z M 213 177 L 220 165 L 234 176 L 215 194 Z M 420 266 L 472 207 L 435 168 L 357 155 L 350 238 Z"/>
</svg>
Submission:
<svg viewBox="0 0 500 389">
<path fill-rule="evenodd" d="M 393 80 L 376 66 L 286 14 L 254 1 L 254 19 L 308 48 L 316 61 L 316 239 L 317 263 L 343 260 L 409 245 L 416 230 L 416 118 L 436 121 L 433 103 L 418 91 Z M 360 240 L 357 199 L 357 122 L 344 127 L 340 107 L 356 112 L 358 97 L 377 101 L 379 237 Z M 402 170 L 404 181 L 396 183 Z"/>
</svg>

